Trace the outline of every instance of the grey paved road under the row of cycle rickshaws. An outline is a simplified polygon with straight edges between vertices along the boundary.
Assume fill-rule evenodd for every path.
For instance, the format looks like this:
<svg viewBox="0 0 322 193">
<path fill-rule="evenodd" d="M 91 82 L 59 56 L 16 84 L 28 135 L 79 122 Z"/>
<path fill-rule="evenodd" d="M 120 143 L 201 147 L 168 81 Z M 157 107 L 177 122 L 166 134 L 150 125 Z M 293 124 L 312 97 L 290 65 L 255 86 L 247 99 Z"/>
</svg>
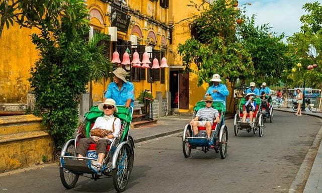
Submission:
<svg viewBox="0 0 322 193">
<path fill-rule="evenodd" d="M 192 151 L 184 158 L 181 133 L 136 145 L 135 163 L 125 192 L 288 192 L 320 129 L 314 117 L 275 112 L 263 137 L 233 134 L 226 120 L 228 154 Z M 305 185 L 305 184 L 304 184 Z M 73 189 L 61 185 L 56 165 L 0 177 L 0 192 L 115 192 L 112 179 L 80 177 Z"/>
</svg>

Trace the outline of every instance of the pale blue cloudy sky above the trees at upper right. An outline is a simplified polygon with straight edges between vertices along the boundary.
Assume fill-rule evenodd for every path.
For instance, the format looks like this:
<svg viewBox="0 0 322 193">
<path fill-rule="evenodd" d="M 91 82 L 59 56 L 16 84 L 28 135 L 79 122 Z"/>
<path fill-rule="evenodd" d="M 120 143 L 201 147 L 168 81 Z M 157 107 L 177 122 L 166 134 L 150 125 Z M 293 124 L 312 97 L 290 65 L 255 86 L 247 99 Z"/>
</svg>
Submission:
<svg viewBox="0 0 322 193">
<path fill-rule="evenodd" d="M 246 15 L 257 15 L 255 25 L 269 23 L 271 30 L 277 35 L 284 32 L 286 36 L 292 36 L 293 33 L 300 32 L 300 17 L 307 14 L 302 6 L 318 1 L 320 0 L 239 0 L 238 6 L 251 3 L 251 6 L 246 7 Z"/>
</svg>

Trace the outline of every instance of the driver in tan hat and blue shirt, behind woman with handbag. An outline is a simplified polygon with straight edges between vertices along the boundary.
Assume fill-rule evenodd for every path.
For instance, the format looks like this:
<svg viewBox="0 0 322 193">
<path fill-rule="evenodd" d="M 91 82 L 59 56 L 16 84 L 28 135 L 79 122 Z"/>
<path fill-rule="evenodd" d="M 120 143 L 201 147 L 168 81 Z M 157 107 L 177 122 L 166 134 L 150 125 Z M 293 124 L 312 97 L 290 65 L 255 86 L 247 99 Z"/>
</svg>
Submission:
<svg viewBox="0 0 322 193">
<path fill-rule="evenodd" d="M 116 105 L 134 107 L 134 85 L 126 81 L 126 71 L 119 67 L 110 73 L 113 74 L 113 82 L 109 83 L 103 101 L 110 98 L 116 102 Z"/>
</svg>

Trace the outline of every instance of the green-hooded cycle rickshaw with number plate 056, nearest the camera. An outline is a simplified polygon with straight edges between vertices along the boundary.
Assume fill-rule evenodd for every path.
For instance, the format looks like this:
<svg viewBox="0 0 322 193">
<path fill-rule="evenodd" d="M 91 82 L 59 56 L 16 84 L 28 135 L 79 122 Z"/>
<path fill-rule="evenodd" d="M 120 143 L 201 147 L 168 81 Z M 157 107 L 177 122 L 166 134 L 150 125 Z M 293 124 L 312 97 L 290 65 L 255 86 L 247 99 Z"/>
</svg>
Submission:
<svg viewBox="0 0 322 193">
<path fill-rule="evenodd" d="M 117 106 L 117 108 L 118 112 L 115 112 L 114 116 L 121 120 L 120 135 L 107 146 L 108 152 L 101 169 L 94 166 L 98 158 L 96 144 L 90 145 L 86 157 L 79 159 L 76 155 L 79 139 L 90 137 L 90 130 L 96 118 L 104 115 L 98 106 L 92 107 L 86 113 L 84 121 L 78 127 L 76 137 L 64 144 L 60 155 L 59 174 L 65 188 L 74 187 L 81 175 L 94 180 L 113 177 L 115 189 L 118 192 L 125 190 L 134 161 L 134 140 L 129 135 L 133 109 L 127 109 L 125 106 Z"/>
</svg>

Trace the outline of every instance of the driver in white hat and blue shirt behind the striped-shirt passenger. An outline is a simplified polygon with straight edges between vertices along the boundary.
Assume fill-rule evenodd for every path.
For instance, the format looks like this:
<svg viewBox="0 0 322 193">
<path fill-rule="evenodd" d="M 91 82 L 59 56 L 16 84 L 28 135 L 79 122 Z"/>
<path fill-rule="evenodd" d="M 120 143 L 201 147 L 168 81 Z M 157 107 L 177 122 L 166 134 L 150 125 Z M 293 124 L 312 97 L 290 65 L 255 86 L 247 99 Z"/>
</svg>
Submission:
<svg viewBox="0 0 322 193">
<path fill-rule="evenodd" d="M 208 95 L 213 100 L 224 101 L 226 103 L 226 96 L 229 95 L 229 90 L 226 85 L 220 83 L 220 75 L 214 74 L 210 81 L 212 81 L 212 85 L 207 89 L 205 97 Z"/>
</svg>

